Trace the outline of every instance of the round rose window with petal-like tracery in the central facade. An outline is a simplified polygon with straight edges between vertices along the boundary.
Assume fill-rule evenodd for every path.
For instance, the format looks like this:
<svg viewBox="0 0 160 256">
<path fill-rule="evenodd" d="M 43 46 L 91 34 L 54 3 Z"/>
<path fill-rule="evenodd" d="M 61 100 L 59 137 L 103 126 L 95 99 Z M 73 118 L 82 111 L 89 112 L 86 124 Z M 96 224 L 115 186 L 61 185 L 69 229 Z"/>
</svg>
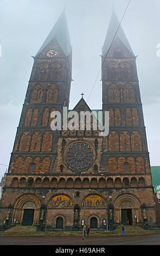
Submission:
<svg viewBox="0 0 160 256">
<path fill-rule="evenodd" d="M 66 153 L 66 164 L 74 170 L 89 168 L 94 161 L 94 153 L 90 145 L 81 142 L 70 145 Z"/>
</svg>

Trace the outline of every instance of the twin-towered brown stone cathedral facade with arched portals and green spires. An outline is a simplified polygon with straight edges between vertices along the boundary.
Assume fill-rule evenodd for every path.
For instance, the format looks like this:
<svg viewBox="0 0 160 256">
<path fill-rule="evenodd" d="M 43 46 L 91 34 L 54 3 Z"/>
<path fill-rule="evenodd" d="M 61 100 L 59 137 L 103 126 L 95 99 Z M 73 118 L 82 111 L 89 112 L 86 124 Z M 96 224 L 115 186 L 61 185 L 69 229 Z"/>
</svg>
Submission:
<svg viewBox="0 0 160 256">
<path fill-rule="evenodd" d="M 114 38 L 118 26 L 113 13 L 101 54 L 107 136 L 93 129 L 50 129 L 53 111 L 67 107 L 69 113 L 72 47 L 65 13 L 34 57 L 3 188 L 1 226 L 65 230 L 84 223 L 91 229 L 156 223 L 136 56 L 121 26 Z M 83 95 L 73 110 L 92 111 Z"/>
</svg>

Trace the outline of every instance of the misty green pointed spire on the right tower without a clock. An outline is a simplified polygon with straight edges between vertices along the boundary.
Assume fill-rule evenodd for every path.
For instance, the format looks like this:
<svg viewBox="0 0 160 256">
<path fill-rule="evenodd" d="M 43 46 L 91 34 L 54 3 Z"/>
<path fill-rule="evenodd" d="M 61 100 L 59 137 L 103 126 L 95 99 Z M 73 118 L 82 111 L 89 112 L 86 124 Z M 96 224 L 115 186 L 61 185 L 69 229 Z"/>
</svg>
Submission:
<svg viewBox="0 0 160 256">
<path fill-rule="evenodd" d="M 110 20 L 110 24 L 108 26 L 108 31 L 107 31 L 107 34 L 106 34 L 106 38 L 105 38 L 105 42 L 104 42 L 104 46 L 103 46 L 103 50 L 102 50 L 102 55 L 103 56 L 105 56 L 105 54 L 109 50 L 110 45 L 112 43 L 112 40 L 113 40 L 114 35 L 116 34 L 116 32 L 117 32 L 117 34 L 116 34 L 114 40 L 116 38 L 119 38 L 119 40 L 125 45 L 127 50 L 129 50 L 130 53 L 133 56 L 135 56 L 135 54 L 133 53 L 132 48 L 129 44 L 129 41 L 126 38 L 126 35 L 123 31 L 123 28 L 121 27 L 121 25 L 119 26 L 119 24 L 120 24 L 120 22 L 118 20 L 118 17 L 116 15 L 115 11 L 114 11 L 114 8 L 113 8 L 112 17 L 111 17 L 111 20 Z M 118 31 L 117 31 L 117 29 L 118 29 Z"/>
</svg>

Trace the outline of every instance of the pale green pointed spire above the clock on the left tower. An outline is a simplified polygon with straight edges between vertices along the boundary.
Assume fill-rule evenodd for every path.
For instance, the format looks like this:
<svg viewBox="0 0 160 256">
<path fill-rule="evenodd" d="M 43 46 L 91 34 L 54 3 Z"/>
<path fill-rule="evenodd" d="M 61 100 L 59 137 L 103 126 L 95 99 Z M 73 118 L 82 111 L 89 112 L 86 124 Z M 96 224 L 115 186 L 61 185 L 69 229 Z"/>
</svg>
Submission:
<svg viewBox="0 0 160 256">
<path fill-rule="evenodd" d="M 55 25 L 52 28 L 52 31 L 50 31 L 46 40 L 43 42 L 43 45 L 41 46 L 40 50 L 37 52 L 36 57 L 54 38 L 57 40 L 57 42 L 61 46 L 65 55 L 68 56 L 72 51 L 72 47 L 71 47 L 71 41 L 69 38 L 65 9 L 62 11 L 62 14 L 60 15 L 59 19 L 56 21 Z"/>
</svg>

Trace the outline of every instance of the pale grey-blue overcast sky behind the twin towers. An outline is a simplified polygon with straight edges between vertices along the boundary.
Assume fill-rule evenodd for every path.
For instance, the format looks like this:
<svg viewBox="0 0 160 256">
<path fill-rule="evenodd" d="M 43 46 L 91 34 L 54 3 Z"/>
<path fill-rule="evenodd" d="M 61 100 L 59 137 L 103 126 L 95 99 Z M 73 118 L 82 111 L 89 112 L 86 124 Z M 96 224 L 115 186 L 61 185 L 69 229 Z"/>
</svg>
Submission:
<svg viewBox="0 0 160 256">
<path fill-rule="evenodd" d="M 129 0 L 1 0 L 0 3 L 0 163 L 9 164 L 10 153 L 28 87 L 33 58 L 54 23 L 66 10 L 73 46 L 74 82 L 69 108 L 84 92 L 87 100 L 101 66 L 103 46 L 112 9 L 119 20 Z M 160 1 L 131 0 L 121 23 L 137 57 L 148 148 L 152 166 L 160 166 Z M 91 109 L 101 108 L 101 74 L 88 100 Z M 0 179 L 7 167 L 0 165 Z"/>
</svg>

